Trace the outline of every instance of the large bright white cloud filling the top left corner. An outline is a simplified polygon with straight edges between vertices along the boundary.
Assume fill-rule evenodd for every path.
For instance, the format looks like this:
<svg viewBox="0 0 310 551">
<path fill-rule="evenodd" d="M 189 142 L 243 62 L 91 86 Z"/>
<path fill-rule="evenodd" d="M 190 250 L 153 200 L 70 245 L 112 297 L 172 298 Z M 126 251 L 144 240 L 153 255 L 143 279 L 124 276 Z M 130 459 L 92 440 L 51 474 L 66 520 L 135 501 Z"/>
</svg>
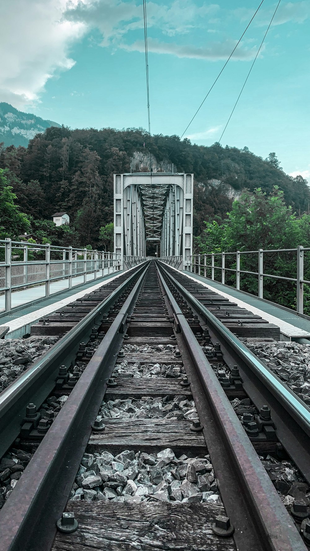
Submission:
<svg viewBox="0 0 310 551">
<path fill-rule="evenodd" d="M 73 67 L 73 41 L 85 25 L 66 21 L 66 0 L 10 0 L 1 4 L 0 98 L 16 107 L 31 105 L 49 78 Z"/>
</svg>

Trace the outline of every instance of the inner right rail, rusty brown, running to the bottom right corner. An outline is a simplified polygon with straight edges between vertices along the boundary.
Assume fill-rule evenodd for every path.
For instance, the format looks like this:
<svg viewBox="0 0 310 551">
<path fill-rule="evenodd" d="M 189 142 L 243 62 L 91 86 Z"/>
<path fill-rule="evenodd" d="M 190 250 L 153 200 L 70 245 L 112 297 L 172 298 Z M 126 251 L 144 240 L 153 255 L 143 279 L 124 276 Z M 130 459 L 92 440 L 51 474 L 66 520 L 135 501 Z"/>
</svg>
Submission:
<svg viewBox="0 0 310 551">
<path fill-rule="evenodd" d="M 177 287 L 176 280 L 162 265 L 159 266 L 159 270 Z M 244 509 L 252 521 L 254 533 L 243 532 L 243 530 L 236 531 L 234 537 L 237 548 L 242 550 L 253 549 L 252 546 L 249 547 L 249 542 L 254 541 L 255 544 L 260 543 L 260 548 L 264 549 L 264 551 L 305 551 L 306 546 L 302 542 L 292 518 L 288 515 L 282 504 L 263 464 L 259 460 L 248 436 L 245 434 L 236 413 L 234 413 L 220 382 L 218 382 L 215 372 L 206 359 L 200 344 L 194 337 L 193 331 L 191 331 L 183 312 L 170 292 L 167 283 L 164 282 L 162 275 L 161 280 L 213 413 L 213 423 L 204 429 L 204 435 L 216 475 L 221 477 L 221 473 L 218 474 L 216 468 L 219 461 L 221 464 L 221 458 L 216 454 L 212 454 L 212 447 L 208 445 L 208 433 L 211 431 L 212 439 L 212 434 L 214 434 L 215 430 L 218 430 L 218 438 L 222 440 L 223 447 L 226 448 L 226 453 L 228 453 L 233 476 L 236 479 L 236 484 L 239 485 L 240 496 L 244 498 Z M 184 288 L 181 289 L 179 284 L 178 289 L 181 291 L 181 294 L 185 291 Z M 226 493 L 225 484 L 221 484 L 221 479 L 219 483 L 223 496 Z M 226 505 L 225 498 L 223 498 L 223 501 L 224 505 Z M 229 516 L 233 518 L 235 516 L 234 504 L 231 503 L 229 496 L 228 501 L 229 508 L 231 509 Z M 250 528 L 249 524 L 248 528 Z M 256 546 L 256 548 L 258 547 Z"/>
</svg>

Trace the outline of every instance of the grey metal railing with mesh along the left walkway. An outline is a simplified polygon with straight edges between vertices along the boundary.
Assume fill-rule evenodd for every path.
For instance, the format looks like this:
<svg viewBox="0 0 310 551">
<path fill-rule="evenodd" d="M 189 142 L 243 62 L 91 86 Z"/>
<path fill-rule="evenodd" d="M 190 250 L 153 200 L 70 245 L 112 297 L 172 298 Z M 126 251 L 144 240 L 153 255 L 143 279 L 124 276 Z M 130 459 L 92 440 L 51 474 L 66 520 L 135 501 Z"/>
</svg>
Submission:
<svg viewBox="0 0 310 551">
<path fill-rule="evenodd" d="M 113 252 L 1 239 L 0 295 L 4 294 L 4 311 L 11 310 L 12 291 L 45 284 L 47 297 L 51 282 L 68 279 L 71 289 L 74 278 L 83 276 L 82 285 L 89 274 L 94 274 L 95 280 L 121 268 L 121 257 Z"/>
</svg>

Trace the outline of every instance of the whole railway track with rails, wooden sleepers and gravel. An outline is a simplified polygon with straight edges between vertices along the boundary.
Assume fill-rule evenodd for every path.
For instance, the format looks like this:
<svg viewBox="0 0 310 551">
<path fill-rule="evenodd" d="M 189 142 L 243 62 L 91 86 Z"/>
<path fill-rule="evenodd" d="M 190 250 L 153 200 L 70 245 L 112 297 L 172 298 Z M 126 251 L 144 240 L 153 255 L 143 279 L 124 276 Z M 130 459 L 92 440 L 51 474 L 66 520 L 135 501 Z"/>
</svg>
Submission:
<svg viewBox="0 0 310 551">
<path fill-rule="evenodd" d="M 1 549 L 306 549 L 308 505 L 288 514 L 258 453 L 309 483 L 309 408 L 238 338 L 279 328 L 161 263 L 104 293 L 34 326 L 68 332 L 0 395 L 2 455 L 33 454 Z"/>
</svg>

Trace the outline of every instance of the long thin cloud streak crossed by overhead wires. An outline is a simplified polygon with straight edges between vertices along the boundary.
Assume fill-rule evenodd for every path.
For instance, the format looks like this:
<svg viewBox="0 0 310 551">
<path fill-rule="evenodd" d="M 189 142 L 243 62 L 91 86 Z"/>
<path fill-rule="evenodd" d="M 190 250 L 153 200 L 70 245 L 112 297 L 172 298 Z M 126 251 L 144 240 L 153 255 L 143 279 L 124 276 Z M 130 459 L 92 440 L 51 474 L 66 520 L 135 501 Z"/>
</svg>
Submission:
<svg viewBox="0 0 310 551">
<path fill-rule="evenodd" d="M 224 42 L 209 43 L 208 46 L 197 48 L 195 46 L 179 46 L 174 42 L 160 42 L 156 39 L 148 40 L 148 52 L 153 53 L 168 53 L 177 57 L 188 57 L 196 60 L 227 60 L 233 48 L 236 46 L 237 40 L 225 40 Z M 127 52 L 144 52 L 145 43 L 142 40 L 137 40 L 133 44 L 120 44 L 120 48 Z M 252 60 L 257 52 L 257 47 L 247 48 L 242 47 L 241 43 L 234 52 L 232 60 Z"/>
</svg>

